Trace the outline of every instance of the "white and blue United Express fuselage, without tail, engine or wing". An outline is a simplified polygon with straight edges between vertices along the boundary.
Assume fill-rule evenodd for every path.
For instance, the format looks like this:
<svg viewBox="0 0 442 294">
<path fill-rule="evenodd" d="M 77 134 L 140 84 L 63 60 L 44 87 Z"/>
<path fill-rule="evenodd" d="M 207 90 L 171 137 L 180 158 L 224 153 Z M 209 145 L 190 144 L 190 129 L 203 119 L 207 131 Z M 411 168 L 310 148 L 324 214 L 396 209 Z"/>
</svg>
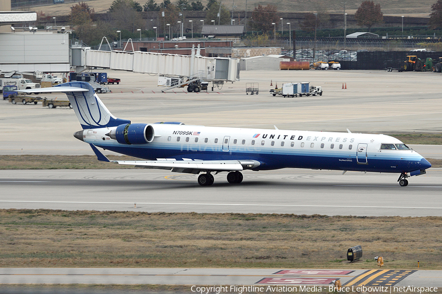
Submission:
<svg viewBox="0 0 442 294">
<path fill-rule="evenodd" d="M 83 130 L 83 141 L 146 160 L 255 160 L 261 164 L 254 170 L 304 168 L 402 173 L 428 168 L 422 167 L 424 158 L 412 149 L 382 149 L 383 144 L 403 146 L 401 141 L 386 135 L 149 125 L 153 130 L 150 143 L 121 144 L 106 135 L 116 127 Z"/>
</svg>

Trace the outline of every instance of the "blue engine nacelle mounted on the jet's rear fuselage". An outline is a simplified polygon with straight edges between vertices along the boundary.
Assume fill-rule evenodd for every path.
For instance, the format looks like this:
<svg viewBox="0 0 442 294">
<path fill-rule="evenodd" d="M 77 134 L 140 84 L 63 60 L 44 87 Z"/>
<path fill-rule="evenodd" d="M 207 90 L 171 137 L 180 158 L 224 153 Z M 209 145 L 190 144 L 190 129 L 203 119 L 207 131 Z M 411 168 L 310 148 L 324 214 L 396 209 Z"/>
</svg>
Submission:
<svg viewBox="0 0 442 294">
<path fill-rule="evenodd" d="M 140 145 L 151 143 L 155 138 L 154 128 L 146 123 L 120 124 L 109 136 L 120 144 Z"/>
</svg>

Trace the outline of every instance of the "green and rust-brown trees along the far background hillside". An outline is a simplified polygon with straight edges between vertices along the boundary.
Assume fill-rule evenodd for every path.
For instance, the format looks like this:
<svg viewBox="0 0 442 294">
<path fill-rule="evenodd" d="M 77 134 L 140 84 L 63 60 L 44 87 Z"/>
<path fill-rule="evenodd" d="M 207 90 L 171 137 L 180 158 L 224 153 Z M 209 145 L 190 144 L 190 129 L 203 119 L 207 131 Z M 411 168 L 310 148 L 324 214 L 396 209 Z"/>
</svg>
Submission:
<svg viewBox="0 0 442 294">
<path fill-rule="evenodd" d="M 178 21 L 182 21 L 186 25 L 186 31 L 190 32 L 190 24 L 184 22 L 187 11 L 205 11 L 204 24 L 206 25 L 230 25 L 233 23 L 231 11 L 218 0 L 209 0 L 206 5 L 203 5 L 201 0 L 192 2 L 178 0 L 176 3 L 164 0 L 160 4 L 156 0 L 147 0 L 143 5 L 136 0 L 114 0 L 105 20 L 96 20 L 94 9 L 90 8 L 86 2 L 73 5 L 69 15 L 69 25 L 74 29 L 74 37 L 93 46 L 97 45 L 103 36 L 109 40 L 117 41 L 120 37 L 119 34 L 122 39 L 139 38 L 140 35 L 142 38 L 152 38 L 157 34 L 166 36 L 169 31 L 171 34 L 178 34 Z M 432 11 L 428 25 L 431 28 L 442 27 L 442 0 L 438 0 L 432 5 Z M 155 19 L 149 21 L 143 19 L 143 12 L 158 12 L 158 14 Z M 383 24 L 381 5 L 371 0 L 364 0 L 354 18 L 357 25 L 366 27 L 370 31 L 373 26 Z M 50 22 L 51 19 L 43 12 L 37 13 L 37 22 L 41 26 L 45 22 Z M 281 25 L 287 26 L 287 24 L 281 23 L 277 7 L 273 4 L 266 6 L 258 4 L 253 9 L 251 17 L 247 20 L 240 20 L 236 25 L 247 25 L 248 31 L 259 32 L 258 35 L 267 35 L 267 37 L 276 36 L 279 27 L 282 27 Z M 292 24 L 292 28 L 295 26 L 306 32 L 330 29 L 327 8 L 318 5 L 315 12 L 306 13 L 301 22 Z M 153 29 L 154 27 L 156 29 Z M 193 24 L 192 27 L 195 28 L 197 25 Z M 117 30 L 119 33 L 116 32 Z M 168 38 L 170 39 L 170 36 Z"/>
</svg>

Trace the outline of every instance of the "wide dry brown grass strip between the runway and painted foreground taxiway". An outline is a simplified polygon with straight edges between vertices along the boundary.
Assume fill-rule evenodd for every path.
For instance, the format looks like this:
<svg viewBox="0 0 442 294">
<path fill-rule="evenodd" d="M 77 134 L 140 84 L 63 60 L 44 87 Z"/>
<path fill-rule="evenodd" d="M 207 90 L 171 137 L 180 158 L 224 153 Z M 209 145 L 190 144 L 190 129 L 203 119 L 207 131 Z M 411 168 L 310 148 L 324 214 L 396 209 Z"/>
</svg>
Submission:
<svg viewBox="0 0 442 294">
<path fill-rule="evenodd" d="M 0 238 L 0 267 L 442 269 L 441 217 L 3 209 Z"/>
</svg>

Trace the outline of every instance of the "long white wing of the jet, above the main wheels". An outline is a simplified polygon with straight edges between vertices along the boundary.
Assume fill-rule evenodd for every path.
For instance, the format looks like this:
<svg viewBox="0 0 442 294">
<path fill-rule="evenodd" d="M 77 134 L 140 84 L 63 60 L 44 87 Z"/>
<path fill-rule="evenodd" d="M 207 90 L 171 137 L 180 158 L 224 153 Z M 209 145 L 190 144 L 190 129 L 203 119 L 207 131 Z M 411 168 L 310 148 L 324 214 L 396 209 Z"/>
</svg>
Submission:
<svg viewBox="0 0 442 294">
<path fill-rule="evenodd" d="M 148 160 L 112 161 L 118 164 L 139 166 L 147 169 L 171 170 L 172 172 L 235 172 L 250 170 L 260 165 L 255 160 Z"/>
</svg>

